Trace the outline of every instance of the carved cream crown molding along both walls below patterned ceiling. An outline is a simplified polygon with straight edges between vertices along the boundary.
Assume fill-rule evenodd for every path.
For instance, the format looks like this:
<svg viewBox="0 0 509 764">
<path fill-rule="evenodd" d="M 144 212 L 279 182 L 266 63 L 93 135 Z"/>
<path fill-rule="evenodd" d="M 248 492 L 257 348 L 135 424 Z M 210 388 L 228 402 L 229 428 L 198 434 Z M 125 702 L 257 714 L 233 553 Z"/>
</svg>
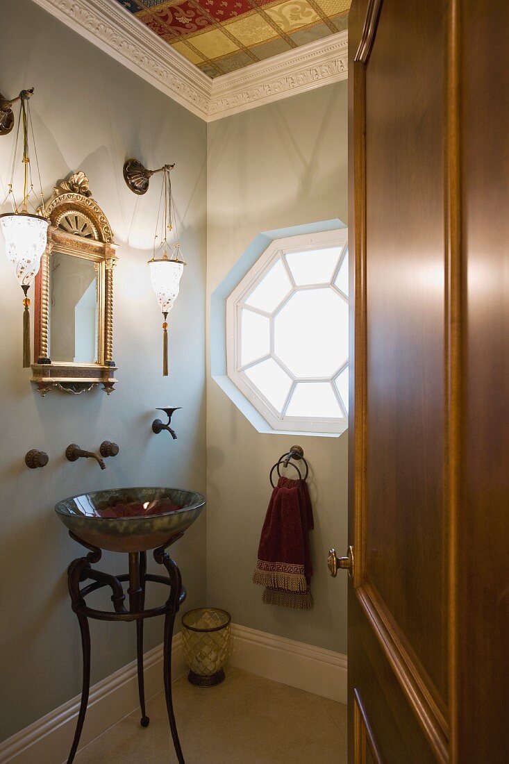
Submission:
<svg viewBox="0 0 509 764">
<path fill-rule="evenodd" d="M 116 0 L 34 2 L 207 122 L 348 77 L 346 31 L 210 79 Z"/>
</svg>

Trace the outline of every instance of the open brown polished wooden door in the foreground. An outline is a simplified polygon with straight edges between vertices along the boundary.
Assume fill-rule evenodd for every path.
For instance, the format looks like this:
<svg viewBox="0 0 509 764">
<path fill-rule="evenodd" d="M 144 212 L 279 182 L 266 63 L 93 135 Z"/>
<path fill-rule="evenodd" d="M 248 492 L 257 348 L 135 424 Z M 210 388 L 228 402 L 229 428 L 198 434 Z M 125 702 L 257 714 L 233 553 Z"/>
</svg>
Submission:
<svg viewBox="0 0 509 764">
<path fill-rule="evenodd" d="M 509 761 L 509 3 L 354 0 L 349 761 Z"/>
</svg>

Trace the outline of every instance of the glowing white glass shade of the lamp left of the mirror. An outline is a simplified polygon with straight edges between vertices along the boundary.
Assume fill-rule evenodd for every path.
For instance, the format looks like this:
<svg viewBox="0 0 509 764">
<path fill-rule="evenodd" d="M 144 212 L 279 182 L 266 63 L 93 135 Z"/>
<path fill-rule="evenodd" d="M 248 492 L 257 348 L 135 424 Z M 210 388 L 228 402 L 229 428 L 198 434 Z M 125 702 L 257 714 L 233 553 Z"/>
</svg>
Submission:
<svg viewBox="0 0 509 764">
<path fill-rule="evenodd" d="M 26 212 L 0 215 L 5 252 L 21 286 L 30 286 L 41 265 L 49 220 Z"/>
</svg>

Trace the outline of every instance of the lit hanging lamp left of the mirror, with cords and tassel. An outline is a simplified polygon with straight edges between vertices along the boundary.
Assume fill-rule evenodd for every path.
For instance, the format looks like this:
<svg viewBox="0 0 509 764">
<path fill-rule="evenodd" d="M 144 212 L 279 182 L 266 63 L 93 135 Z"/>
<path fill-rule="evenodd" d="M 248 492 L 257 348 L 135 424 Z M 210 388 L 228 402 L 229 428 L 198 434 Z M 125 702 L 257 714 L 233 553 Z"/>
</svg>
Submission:
<svg viewBox="0 0 509 764">
<path fill-rule="evenodd" d="M 15 269 L 15 275 L 18 283 L 24 292 L 24 312 L 23 312 L 23 366 L 30 366 L 30 299 L 28 299 L 28 290 L 36 277 L 41 266 L 41 257 L 47 246 L 47 228 L 50 221 L 45 217 L 44 199 L 42 186 L 40 191 L 41 205 L 34 193 L 34 183 L 31 176 L 30 152 L 28 145 L 28 128 L 31 130 L 32 142 L 34 133 L 31 125 L 28 99 L 34 92 L 31 90 L 22 90 L 18 96 L 21 102 L 20 115 L 18 121 L 18 133 L 16 134 L 15 154 L 12 163 L 11 182 L 8 184 L 7 198 L 10 198 L 12 212 L 0 215 L 0 228 L 5 238 L 5 253 L 8 260 Z M 15 99 L 17 101 L 18 99 Z M 13 103 L 13 102 L 11 102 Z M 23 126 L 23 198 L 20 204 L 16 202 L 14 186 L 15 162 L 18 148 L 18 137 L 20 125 Z M 37 173 L 39 165 L 37 162 L 37 151 L 35 151 Z M 41 182 L 41 176 L 39 175 Z M 37 206 L 34 200 L 37 199 Z M 5 201 L 5 200 L 4 200 Z M 34 208 L 34 212 L 28 212 L 28 204 Z M 41 215 L 36 214 L 37 207 L 41 210 Z"/>
</svg>

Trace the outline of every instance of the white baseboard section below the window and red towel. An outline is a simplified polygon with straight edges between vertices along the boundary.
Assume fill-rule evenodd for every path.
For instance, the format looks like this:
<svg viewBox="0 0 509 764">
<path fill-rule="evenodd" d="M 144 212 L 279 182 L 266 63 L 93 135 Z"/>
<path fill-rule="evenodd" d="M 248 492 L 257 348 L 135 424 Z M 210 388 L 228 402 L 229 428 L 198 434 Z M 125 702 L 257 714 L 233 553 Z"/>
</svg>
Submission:
<svg viewBox="0 0 509 764">
<path fill-rule="evenodd" d="M 232 636 L 231 665 L 346 703 L 347 659 L 342 653 L 236 624 Z"/>
</svg>

